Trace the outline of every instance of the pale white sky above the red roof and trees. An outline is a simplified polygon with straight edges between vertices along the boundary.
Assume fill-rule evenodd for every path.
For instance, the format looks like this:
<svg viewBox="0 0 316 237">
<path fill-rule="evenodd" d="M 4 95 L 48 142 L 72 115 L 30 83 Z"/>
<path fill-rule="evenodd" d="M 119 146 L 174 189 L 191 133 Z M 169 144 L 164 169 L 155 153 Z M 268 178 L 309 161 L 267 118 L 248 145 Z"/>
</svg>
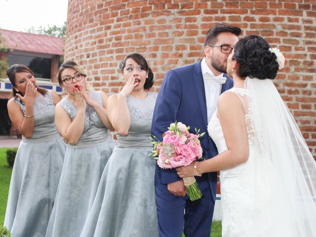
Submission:
<svg viewBox="0 0 316 237">
<path fill-rule="evenodd" d="M 62 26 L 68 0 L 0 0 L 0 28 L 22 31 L 40 26 Z"/>
</svg>

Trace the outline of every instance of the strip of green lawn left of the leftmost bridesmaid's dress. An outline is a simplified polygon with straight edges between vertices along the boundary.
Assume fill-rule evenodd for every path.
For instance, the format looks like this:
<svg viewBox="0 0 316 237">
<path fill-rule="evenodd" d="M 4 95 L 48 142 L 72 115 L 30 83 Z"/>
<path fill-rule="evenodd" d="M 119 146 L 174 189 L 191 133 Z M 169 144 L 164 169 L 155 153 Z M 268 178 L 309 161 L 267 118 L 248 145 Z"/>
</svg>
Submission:
<svg viewBox="0 0 316 237">
<path fill-rule="evenodd" d="M 6 161 L 5 151 L 7 148 L 0 148 L 0 226 L 3 225 L 6 202 L 8 198 L 12 168 Z"/>
</svg>

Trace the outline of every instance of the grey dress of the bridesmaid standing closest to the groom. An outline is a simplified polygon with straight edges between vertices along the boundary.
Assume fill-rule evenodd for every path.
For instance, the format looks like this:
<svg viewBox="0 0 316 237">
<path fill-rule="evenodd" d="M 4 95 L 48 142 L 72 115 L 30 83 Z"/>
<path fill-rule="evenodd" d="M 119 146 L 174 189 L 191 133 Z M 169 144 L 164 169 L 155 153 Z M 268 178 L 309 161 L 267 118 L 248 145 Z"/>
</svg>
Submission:
<svg viewBox="0 0 316 237">
<path fill-rule="evenodd" d="M 128 135 L 118 135 L 81 237 L 158 237 L 156 160 L 148 157 L 156 98 L 127 97 Z"/>
</svg>

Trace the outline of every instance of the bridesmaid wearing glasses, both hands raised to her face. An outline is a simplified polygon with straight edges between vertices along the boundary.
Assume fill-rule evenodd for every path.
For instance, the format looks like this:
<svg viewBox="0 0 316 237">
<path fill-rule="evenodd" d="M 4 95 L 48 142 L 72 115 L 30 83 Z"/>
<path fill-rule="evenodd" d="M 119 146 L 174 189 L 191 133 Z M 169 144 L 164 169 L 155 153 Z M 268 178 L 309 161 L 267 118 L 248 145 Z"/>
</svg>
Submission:
<svg viewBox="0 0 316 237">
<path fill-rule="evenodd" d="M 86 72 L 77 63 L 64 62 L 59 84 L 68 92 L 55 109 L 56 126 L 66 140 L 65 161 L 47 237 L 78 237 L 92 206 L 102 171 L 115 143 L 107 116 L 108 96 L 89 91 Z"/>
</svg>

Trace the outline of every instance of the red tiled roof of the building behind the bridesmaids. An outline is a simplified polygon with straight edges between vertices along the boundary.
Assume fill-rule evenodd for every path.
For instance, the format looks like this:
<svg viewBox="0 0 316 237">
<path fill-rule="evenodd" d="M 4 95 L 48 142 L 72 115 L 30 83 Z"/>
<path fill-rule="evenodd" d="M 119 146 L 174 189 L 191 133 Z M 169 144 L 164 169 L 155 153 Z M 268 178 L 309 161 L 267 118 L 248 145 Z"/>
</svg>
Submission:
<svg viewBox="0 0 316 237">
<path fill-rule="evenodd" d="M 10 49 L 64 55 L 64 39 L 52 36 L 36 35 L 0 29 L 4 45 Z"/>
</svg>

